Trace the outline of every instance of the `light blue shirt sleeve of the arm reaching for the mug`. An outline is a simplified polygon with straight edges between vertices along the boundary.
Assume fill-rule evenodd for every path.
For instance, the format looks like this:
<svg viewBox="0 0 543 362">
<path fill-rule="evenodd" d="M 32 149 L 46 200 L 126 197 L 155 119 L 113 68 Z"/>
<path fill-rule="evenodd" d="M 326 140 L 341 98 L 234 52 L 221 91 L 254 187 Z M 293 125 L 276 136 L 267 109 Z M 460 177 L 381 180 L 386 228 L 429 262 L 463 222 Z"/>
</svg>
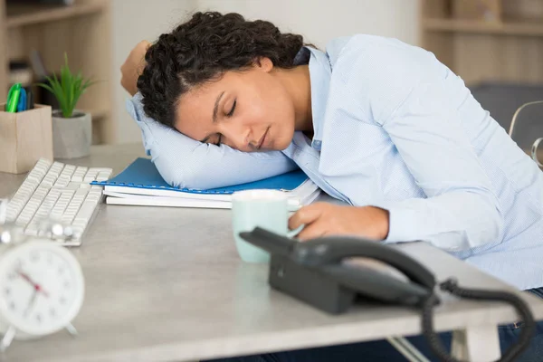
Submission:
<svg viewBox="0 0 543 362">
<path fill-rule="evenodd" d="M 390 42 L 358 48 L 344 59 L 371 71 L 353 81 L 371 87 L 366 107 L 427 196 L 381 205 L 390 215 L 385 242 L 423 240 L 460 251 L 499 240 L 499 199 L 450 97 L 447 77 L 456 76 L 417 47 Z"/>
</svg>

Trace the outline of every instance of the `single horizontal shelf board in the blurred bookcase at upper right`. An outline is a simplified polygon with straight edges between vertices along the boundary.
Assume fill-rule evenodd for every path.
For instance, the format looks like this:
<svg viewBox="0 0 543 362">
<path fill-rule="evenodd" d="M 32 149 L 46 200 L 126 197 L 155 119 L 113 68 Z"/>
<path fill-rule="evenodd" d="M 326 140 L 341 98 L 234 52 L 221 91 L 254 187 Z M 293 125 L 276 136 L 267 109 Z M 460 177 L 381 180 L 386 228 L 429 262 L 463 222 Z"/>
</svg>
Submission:
<svg viewBox="0 0 543 362">
<path fill-rule="evenodd" d="M 543 36 L 543 22 L 484 22 L 479 20 L 424 19 L 424 30 L 450 33 L 488 33 L 502 35 Z"/>
</svg>

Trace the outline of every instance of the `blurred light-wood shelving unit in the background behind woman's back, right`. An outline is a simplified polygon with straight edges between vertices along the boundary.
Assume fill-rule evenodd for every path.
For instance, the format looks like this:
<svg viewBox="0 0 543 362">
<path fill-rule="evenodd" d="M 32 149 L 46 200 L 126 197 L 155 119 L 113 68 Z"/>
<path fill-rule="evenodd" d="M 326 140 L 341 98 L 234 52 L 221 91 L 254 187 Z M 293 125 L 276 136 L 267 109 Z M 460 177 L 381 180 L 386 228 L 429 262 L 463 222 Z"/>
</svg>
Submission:
<svg viewBox="0 0 543 362">
<path fill-rule="evenodd" d="M 421 43 L 468 86 L 543 83 L 543 0 L 423 0 Z"/>
</svg>

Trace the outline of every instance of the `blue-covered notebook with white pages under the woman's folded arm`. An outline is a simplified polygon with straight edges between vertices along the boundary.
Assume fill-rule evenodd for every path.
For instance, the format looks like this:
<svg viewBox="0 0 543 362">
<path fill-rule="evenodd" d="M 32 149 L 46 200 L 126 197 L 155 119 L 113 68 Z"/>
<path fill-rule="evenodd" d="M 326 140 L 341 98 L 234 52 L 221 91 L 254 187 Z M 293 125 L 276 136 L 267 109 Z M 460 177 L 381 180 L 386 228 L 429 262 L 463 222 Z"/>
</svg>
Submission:
<svg viewBox="0 0 543 362">
<path fill-rule="evenodd" d="M 318 189 L 318 187 L 315 186 L 310 181 L 309 177 L 300 169 L 247 184 L 207 190 L 169 186 L 164 178 L 160 176 L 157 167 L 155 167 L 151 160 L 143 157 L 137 158 L 129 165 L 129 167 L 125 168 L 119 175 L 114 176 L 110 180 L 93 181 L 91 182 L 91 185 L 104 186 L 104 193 L 106 195 L 157 195 L 220 201 L 230 201 L 230 195 L 235 191 L 241 190 L 265 188 L 281 190 L 288 193 L 295 190 L 303 190 L 304 195 L 297 196 L 304 197 L 308 192 L 312 193 Z M 299 193 L 295 192 L 294 194 Z"/>
</svg>

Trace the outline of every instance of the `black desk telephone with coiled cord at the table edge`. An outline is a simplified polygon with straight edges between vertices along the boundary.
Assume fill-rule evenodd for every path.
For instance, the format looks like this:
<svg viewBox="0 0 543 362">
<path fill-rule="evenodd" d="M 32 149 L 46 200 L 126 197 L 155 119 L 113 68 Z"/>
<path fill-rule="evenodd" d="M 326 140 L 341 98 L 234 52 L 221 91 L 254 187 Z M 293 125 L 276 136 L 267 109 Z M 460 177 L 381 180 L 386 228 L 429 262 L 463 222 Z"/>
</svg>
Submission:
<svg viewBox="0 0 543 362">
<path fill-rule="evenodd" d="M 322 237 L 300 243 L 259 227 L 240 236 L 270 252 L 268 281 L 272 288 L 331 314 L 347 311 L 357 297 L 420 309 L 424 336 L 433 352 L 443 361 L 457 361 L 445 351 L 433 331 L 432 310 L 439 303 L 434 290 L 438 283 L 432 272 L 404 252 L 357 237 Z M 406 280 L 344 262 L 353 257 L 385 262 L 405 274 Z M 506 291 L 467 290 L 452 280 L 440 283 L 439 287 L 461 298 L 502 300 L 512 304 L 522 316 L 525 327 L 518 343 L 506 351 L 500 361 L 512 361 L 528 348 L 535 332 L 535 320 L 517 295 Z"/>
</svg>

